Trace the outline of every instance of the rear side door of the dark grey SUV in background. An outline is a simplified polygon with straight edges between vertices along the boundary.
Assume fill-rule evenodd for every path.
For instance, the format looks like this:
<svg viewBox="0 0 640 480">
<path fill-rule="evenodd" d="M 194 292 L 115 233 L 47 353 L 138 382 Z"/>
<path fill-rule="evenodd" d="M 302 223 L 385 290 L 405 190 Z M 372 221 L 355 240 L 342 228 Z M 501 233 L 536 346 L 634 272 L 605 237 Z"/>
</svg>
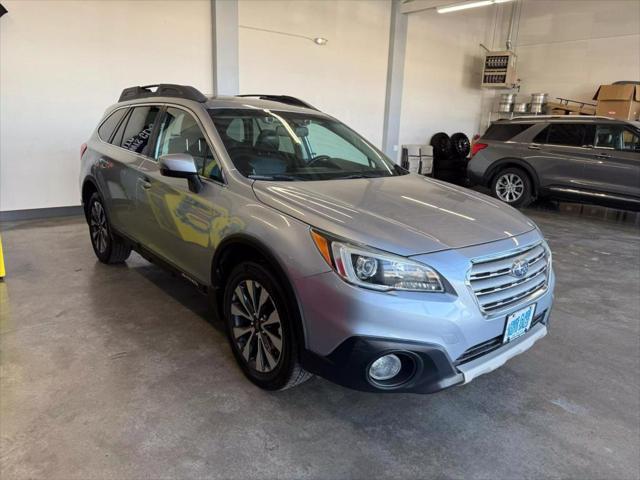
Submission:
<svg viewBox="0 0 640 480">
<path fill-rule="evenodd" d="M 529 145 L 543 188 L 593 190 L 597 160 L 593 156 L 595 126 L 580 122 L 553 122 Z"/>
</svg>

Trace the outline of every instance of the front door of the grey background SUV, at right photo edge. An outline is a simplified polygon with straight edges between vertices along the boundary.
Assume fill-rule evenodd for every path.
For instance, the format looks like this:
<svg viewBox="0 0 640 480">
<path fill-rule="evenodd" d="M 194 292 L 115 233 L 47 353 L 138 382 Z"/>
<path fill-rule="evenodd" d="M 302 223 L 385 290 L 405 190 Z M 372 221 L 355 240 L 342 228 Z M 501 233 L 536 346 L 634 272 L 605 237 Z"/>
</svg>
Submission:
<svg viewBox="0 0 640 480">
<path fill-rule="evenodd" d="M 602 191 L 640 198 L 640 133 L 615 123 L 598 124 L 594 157 Z"/>
</svg>

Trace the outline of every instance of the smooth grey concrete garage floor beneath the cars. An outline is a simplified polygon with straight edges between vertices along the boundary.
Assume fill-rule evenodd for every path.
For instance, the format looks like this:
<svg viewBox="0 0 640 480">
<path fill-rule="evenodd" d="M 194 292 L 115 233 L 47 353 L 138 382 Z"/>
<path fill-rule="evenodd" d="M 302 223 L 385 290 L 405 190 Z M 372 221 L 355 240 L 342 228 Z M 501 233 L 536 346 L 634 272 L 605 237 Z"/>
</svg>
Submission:
<svg viewBox="0 0 640 480">
<path fill-rule="evenodd" d="M 550 335 L 431 396 L 244 379 L 206 299 L 79 218 L 5 224 L 0 477 L 640 476 L 640 230 L 527 212 L 554 252 Z"/>
</svg>

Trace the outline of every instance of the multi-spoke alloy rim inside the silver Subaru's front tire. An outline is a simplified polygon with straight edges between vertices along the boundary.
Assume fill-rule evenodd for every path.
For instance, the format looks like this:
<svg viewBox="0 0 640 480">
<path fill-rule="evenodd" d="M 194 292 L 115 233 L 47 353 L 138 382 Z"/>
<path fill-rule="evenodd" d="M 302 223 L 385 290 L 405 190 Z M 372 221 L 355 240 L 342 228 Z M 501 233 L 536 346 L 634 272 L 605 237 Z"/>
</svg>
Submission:
<svg viewBox="0 0 640 480">
<path fill-rule="evenodd" d="M 243 280 L 231 299 L 232 336 L 249 367 L 270 373 L 282 357 L 282 323 L 269 292 L 255 280 Z"/>
</svg>

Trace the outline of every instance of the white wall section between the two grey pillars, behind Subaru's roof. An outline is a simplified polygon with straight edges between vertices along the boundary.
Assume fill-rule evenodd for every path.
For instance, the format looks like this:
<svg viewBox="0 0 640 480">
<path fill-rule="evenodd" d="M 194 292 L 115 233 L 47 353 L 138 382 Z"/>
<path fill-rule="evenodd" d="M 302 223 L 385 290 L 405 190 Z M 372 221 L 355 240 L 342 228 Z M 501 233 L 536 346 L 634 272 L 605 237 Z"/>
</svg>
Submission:
<svg viewBox="0 0 640 480">
<path fill-rule="evenodd" d="M 391 3 L 241 0 L 239 23 L 324 37 L 240 28 L 240 91 L 288 94 L 334 115 L 380 147 Z"/>
</svg>

